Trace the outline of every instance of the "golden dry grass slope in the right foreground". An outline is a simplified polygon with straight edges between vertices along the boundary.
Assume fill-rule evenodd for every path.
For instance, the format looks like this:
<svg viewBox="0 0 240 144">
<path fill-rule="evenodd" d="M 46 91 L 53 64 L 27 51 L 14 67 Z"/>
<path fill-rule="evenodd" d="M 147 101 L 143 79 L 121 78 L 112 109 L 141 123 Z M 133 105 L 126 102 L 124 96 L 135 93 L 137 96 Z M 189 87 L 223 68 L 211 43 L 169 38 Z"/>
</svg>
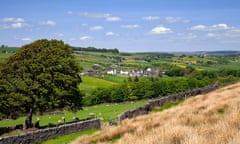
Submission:
<svg viewBox="0 0 240 144">
<path fill-rule="evenodd" d="M 240 83 L 72 142 L 89 143 L 240 144 Z"/>
</svg>

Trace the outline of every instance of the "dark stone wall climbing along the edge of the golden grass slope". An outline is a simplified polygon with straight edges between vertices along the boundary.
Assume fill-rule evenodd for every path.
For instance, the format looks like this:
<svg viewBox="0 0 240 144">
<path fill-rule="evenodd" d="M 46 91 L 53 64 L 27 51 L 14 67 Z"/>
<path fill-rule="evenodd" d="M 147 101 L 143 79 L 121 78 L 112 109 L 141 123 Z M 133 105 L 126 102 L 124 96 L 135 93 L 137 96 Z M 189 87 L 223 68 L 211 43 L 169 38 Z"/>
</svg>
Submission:
<svg viewBox="0 0 240 144">
<path fill-rule="evenodd" d="M 168 96 L 163 96 L 158 99 L 150 100 L 148 104 L 146 104 L 145 106 L 138 107 L 134 110 L 126 111 L 121 115 L 119 115 L 118 118 L 119 118 L 119 121 L 121 122 L 124 119 L 130 119 L 139 115 L 147 114 L 148 112 L 152 111 L 153 108 L 163 106 L 165 103 L 168 103 L 171 101 L 179 101 L 179 100 L 186 99 L 188 97 L 196 96 L 199 94 L 206 94 L 208 92 L 216 90 L 218 87 L 219 87 L 219 84 L 213 84 L 203 88 L 198 88 L 198 89 L 190 90 L 187 92 L 181 92 L 178 94 L 172 94 Z"/>
</svg>

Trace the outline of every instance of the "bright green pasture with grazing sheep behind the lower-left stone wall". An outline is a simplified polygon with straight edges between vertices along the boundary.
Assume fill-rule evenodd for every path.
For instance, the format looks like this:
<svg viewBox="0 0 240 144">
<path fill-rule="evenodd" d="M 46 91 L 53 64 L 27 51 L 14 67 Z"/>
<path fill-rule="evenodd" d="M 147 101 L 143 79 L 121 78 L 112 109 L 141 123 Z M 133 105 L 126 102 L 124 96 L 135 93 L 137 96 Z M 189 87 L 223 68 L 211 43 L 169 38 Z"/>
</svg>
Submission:
<svg viewBox="0 0 240 144">
<path fill-rule="evenodd" d="M 33 121 L 40 119 L 40 125 L 47 125 L 48 123 L 58 124 L 58 121 L 64 117 L 66 121 L 72 121 L 73 117 L 78 117 L 80 119 L 87 118 L 91 114 L 95 114 L 97 118 L 100 118 L 103 122 L 108 122 L 109 120 L 116 119 L 116 117 L 129 109 L 134 109 L 139 106 L 143 106 L 147 101 L 138 102 L 128 102 L 120 104 L 101 104 L 91 107 L 84 107 L 83 110 L 77 111 L 76 113 L 70 111 L 64 111 L 64 114 L 58 115 L 43 115 L 34 116 Z M 17 124 L 23 124 L 25 117 L 20 117 L 16 120 L 2 120 L 0 121 L 0 127 L 14 126 Z"/>
</svg>

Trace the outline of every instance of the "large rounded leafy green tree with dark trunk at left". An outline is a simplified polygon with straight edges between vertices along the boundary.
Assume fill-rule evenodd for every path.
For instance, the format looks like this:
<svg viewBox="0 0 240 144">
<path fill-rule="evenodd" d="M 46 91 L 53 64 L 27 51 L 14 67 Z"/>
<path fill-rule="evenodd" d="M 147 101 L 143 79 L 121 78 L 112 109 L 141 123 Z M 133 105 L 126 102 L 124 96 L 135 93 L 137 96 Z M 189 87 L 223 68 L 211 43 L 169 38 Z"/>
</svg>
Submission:
<svg viewBox="0 0 240 144">
<path fill-rule="evenodd" d="M 62 41 L 37 40 L 0 66 L 0 113 L 13 118 L 26 114 L 27 128 L 34 113 L 81 108 L 80 69 Z"/>
</svg>

